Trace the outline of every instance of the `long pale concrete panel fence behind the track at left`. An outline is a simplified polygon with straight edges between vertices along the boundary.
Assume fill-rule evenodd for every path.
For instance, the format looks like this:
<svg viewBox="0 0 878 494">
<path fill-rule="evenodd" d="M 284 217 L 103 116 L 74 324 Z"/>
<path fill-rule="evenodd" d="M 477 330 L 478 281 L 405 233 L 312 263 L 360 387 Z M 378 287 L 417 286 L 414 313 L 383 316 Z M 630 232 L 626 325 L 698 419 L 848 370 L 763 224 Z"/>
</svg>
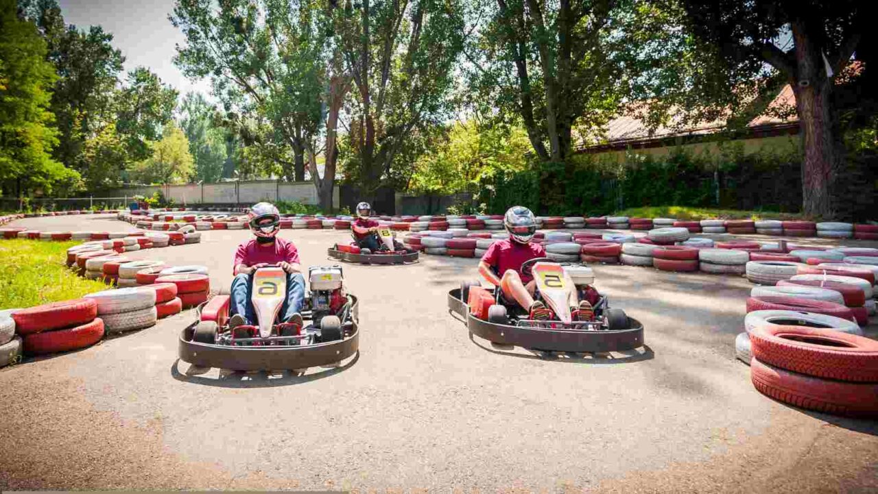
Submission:
<svg viewBox="0 0 878 494">
<path fill-rule="evenodd" d="M 155 191 L 176 204 L 254 204 L 259 201 L 296 201 L 302 204 L 320 204 L 317 190 L 310 182 L 280 182 L 258 180 L 252 182 L 187 183 L 185 185 L 148 185 L 110 190 L 112 197 L 152 197 Z M 333 207 L 339 207 L 339 190 L 333 190 Z"/>
</svg>

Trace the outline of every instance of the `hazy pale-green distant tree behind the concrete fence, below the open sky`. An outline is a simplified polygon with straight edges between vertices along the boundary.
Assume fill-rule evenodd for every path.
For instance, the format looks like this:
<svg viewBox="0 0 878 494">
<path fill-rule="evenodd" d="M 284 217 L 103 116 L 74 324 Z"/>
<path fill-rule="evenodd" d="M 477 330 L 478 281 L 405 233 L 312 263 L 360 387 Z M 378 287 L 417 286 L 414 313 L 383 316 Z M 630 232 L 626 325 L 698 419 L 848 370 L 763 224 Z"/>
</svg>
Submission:
<svg viewBox="0 0 878 494">
<path fill-rule="evenodd" d="M 201 93 L 187 94 L 180 104 L 179 125 L 189 140 L 189 151 L 195 161 L 195 179 L 217 182 L 227 159 L 227 130 L 216 125 L 216 107 L 207 103 Z"/>
</svg>

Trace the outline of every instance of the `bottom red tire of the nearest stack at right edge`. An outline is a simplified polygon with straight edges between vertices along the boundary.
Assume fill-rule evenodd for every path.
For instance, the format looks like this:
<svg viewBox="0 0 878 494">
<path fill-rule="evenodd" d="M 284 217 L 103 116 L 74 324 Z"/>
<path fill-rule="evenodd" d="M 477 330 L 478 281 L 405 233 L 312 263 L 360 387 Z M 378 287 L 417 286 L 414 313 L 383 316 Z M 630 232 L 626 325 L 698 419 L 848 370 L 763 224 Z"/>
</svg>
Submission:
<svg viewBox="0 0 878 494">
<path fill-rule="evenodd" d="M 878 416 L 878 384 L 843 383 L 750 362 L 753 386 L 767 397 L 817 412 L 853 417 Z"/>
</svg>

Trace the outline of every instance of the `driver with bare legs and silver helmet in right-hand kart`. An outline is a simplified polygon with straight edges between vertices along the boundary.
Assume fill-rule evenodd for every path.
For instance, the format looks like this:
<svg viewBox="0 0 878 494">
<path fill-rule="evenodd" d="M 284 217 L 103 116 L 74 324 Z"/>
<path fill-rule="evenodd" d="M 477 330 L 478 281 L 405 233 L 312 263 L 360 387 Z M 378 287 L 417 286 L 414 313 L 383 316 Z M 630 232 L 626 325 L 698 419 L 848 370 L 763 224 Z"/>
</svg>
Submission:
<svg viewBox="0 0 878 494">
<path fill-rule="evenodd" d="M 509 233 L 507 240 L 500 240 L 488 247 L 482 260 L 479 261 L 479 273 L 489 283 L 500 287 L 507 300 L 515 300 L 522 308 L 527 309 L 530 319 L 551 319 L 551 310 L 541 300 L 534 300 L 536 283 L 530 273 L 521 273 L 525 261 L 545 257 L 543 246 L 531 242 L 536 233 L 534 213 L 523 206 L 513 206 L 503 216 L 503 226 Z M 498 275 L 499 274 L 499 275 Z M 568 286 L 573 286 L 570 276 Z M 587 300 L 579 302 L 576 290 L 571 290 L 571 312 L 579 320 L 594 318 L 592 304 Z"/>
</svg>

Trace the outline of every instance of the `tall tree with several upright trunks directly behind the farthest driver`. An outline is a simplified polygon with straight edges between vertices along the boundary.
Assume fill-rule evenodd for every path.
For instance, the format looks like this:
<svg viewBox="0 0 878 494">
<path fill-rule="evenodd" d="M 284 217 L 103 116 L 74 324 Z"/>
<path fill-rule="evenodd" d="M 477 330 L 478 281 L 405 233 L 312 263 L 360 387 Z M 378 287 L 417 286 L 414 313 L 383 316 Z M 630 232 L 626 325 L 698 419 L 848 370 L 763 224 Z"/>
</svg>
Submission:
<svg viewBox="0 0 878 494">
<path fill-rule="evenodd" d="M 368 195 L 400 163 L 413 132 L 448 117 L 454 68 L 464 44 L 457 0 L 346 0 L 332 10 L 356 90 L 346 110 L 360 185 Z M 411 156 L 407 156 L 411 158 Z"/>
</svg>

